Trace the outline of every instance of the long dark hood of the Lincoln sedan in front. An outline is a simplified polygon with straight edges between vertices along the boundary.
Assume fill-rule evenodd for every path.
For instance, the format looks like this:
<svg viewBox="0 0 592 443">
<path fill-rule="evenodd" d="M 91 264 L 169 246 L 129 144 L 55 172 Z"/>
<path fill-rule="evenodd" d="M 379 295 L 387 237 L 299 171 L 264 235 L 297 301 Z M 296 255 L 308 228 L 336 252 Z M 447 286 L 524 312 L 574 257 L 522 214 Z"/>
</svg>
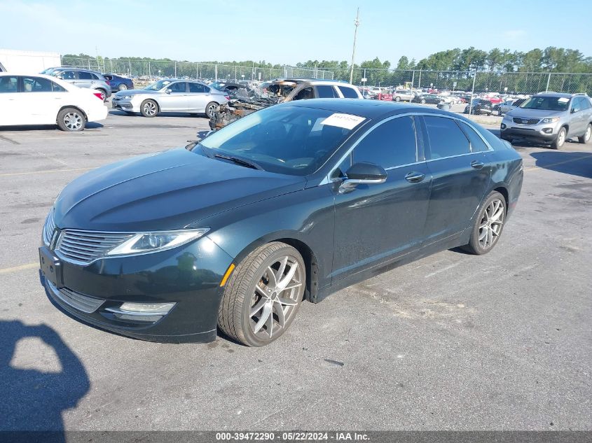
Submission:
<svg viewBox="0 0 592 443">
<path fill-rule="evenodd" d="M 301 190 L 305 178 L 214 160 L 184 148 L 90 171 L 55 202 L 60 229 L 182 229 L 222 211 Z"/>
</svg>

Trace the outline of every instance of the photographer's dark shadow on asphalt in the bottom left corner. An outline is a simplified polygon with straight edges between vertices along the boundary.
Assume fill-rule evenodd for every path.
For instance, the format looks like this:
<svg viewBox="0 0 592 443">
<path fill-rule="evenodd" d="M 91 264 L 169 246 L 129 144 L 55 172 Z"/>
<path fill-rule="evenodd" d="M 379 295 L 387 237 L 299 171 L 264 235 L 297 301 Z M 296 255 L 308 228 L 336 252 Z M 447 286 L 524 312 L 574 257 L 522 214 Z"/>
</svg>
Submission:
<svg viewBox="0 0 592 443">
<path fill-rule="evenodd" d="M 28 338 L 40 339 L 55 352 L 58 372 L 13 366 L 18 342 Z M 15 441 L 64 442 L 62 412 L 75 407 L 90 388 L 78 357 L 48 325 L 14 320 L 0 321 L 0 358 L 0 435 L 12 435 Z M 41 350 L 34 358 L 41 359 Z"/>
</svg>

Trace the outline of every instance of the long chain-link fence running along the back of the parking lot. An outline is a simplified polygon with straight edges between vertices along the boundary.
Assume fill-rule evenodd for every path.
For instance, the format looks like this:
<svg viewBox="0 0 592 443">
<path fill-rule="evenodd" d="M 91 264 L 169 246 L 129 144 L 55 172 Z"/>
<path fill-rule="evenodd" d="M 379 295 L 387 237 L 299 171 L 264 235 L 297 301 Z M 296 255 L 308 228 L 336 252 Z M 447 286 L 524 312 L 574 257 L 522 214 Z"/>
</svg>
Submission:
<svg viewBox="0 0 592 443">
<path fill-rule="evenodd" d="M 407 89 L 462 90 L 534 94 L 541 91 L 586 92 L 592 95 L 591 73 L 423 71 L 421 69 L 333 69 L 282 66 L 233 66 L 174 60 L 103 59 L 62 57 L 62 66 L 95 69 L 139 77 L 198 78 L 202 80 L 273 80 L 282 77 L 324 78 L 350 81 L 361 87 L 403 87 Z"/>
</svg>

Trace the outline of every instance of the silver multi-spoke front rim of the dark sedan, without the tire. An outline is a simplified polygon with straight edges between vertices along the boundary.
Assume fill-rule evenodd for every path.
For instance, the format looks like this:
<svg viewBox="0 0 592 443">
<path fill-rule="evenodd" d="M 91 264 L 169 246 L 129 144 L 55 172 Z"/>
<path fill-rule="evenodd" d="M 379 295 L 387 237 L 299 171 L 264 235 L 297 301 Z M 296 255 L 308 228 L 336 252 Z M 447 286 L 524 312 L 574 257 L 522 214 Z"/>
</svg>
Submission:
<svg viewBox="0 0 592 443">
<path fill-rule="evenodd" d="M 303 269 L 291 255 L 268 266 L 252 294 L 249 324 L 256 337 L 269 341 L 296 314 L 298 300 L 304 291 Z"/>
</svg>

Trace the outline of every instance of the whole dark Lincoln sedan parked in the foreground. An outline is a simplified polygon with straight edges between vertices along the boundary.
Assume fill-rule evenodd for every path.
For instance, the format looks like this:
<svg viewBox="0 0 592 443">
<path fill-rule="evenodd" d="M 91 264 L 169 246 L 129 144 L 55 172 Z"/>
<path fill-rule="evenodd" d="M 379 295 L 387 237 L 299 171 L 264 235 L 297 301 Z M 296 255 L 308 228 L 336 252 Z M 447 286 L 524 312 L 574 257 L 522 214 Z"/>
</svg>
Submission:
<svg viewBox="0 0 592 443">
<path fill-rule="evenodd" d="M 46 220 L 41 271 L 99 328 L 262 346 L 303 300 L 448 248 L 488 253 L 522 180 L 509 143 L 460 115 L 294 101 L 76 178 Z"/>
</svg>

